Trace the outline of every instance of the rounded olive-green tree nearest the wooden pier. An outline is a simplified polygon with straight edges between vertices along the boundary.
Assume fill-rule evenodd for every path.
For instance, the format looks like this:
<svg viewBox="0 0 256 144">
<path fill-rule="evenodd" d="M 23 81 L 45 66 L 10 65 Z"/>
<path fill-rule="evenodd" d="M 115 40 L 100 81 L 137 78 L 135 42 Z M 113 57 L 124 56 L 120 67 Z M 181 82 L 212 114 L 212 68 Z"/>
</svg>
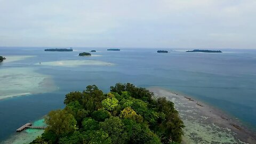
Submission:
<svg viewBox="0 0 256 144">
<path fill-rule="evenodd" d="M 67 135 L 77 129 L 74 116 L 66 110 L 50 111 L 44 122 L 47 124 L 45 131 L 53 131 L 58 137 Z"/>
</svg>

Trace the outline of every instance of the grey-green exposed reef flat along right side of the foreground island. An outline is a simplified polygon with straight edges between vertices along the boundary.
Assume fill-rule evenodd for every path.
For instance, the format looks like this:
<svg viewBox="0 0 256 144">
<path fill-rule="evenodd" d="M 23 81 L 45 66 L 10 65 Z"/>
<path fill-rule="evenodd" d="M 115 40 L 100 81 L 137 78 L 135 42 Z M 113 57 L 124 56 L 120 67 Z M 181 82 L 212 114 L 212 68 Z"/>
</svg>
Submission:
<svg viewBox="0 0 256 144">
<path fill-rule="evenodd" d="M 182 143 L 256 143 L 256 133 L 224 111 L 161 87 L 148 90 L 174 103 L 186 126 Z"/>
</svg>

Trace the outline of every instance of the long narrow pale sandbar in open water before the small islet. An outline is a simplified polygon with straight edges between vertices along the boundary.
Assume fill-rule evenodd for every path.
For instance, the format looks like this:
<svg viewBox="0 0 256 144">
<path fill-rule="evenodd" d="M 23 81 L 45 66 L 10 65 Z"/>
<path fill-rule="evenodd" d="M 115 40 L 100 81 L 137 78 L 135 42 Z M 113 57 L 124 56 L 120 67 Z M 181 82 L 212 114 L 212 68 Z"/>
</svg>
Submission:
<svg viewBox="0 0 256 144">
<path fill-rule="evenodd" d="M 83 65 L 112 66 L 114 65 L 114 63 L 98 61 L 98 60 L 60 60 L 60 61 L 41 62 L 41 64 L 36 63 L 35 65 L 77 67 L 77 66 L 83 66 Z"/>
</svg>

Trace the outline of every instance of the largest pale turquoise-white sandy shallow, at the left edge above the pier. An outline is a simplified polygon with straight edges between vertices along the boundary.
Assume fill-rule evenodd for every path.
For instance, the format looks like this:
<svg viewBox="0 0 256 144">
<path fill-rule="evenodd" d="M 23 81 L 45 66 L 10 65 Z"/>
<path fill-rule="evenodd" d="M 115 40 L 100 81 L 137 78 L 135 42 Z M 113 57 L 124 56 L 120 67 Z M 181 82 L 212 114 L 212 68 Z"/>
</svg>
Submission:
<svg viewBox="0 0 256 144">
<path fill-rule="evenodd" d="M 5 68 L 0 69 L 0 74 L 0 100 L 56 89 L 50 76 L 36 73 L 32 68 Z"/>
</svg>

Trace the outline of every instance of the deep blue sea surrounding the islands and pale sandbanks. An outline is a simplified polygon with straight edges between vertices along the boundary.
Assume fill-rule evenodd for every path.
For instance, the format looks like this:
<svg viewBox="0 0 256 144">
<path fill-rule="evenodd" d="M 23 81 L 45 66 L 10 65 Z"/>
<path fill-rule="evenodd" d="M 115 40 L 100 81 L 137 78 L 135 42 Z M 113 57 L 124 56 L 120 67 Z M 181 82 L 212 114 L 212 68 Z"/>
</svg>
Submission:
<svg viewBox="0 0 256 144">
<path fill-rule="evenodd" d="M 77 56 L 79 52 L 94 49 L 97 50 L 95 54 L 103 56 Z M 223 53 L 187 53 L 185 50 L 156 53 L 157 49 L 74 50 L 44 52 L 43 47 L 0 47 L 0 55 L 37 55 L 1 63 L 0 69 L 33 68 L 37 73 L 50 75 L 59 87 L 51 93 L 0 100 L 0 141 L 14 134 L 22 124 L 42 118 L 50 110 L 63 108 L 66 93 L 82 91 L 92 84 L 108 92 L 109 87 L 118 82 L 143 87 L 159 86 L 191 95 L 256 130 L 256 50 L 226 49 L 222 50 Z M 38 62 L 82 59 L 116 65 L 74 68 L 34 65 Z"/>
</svg>

